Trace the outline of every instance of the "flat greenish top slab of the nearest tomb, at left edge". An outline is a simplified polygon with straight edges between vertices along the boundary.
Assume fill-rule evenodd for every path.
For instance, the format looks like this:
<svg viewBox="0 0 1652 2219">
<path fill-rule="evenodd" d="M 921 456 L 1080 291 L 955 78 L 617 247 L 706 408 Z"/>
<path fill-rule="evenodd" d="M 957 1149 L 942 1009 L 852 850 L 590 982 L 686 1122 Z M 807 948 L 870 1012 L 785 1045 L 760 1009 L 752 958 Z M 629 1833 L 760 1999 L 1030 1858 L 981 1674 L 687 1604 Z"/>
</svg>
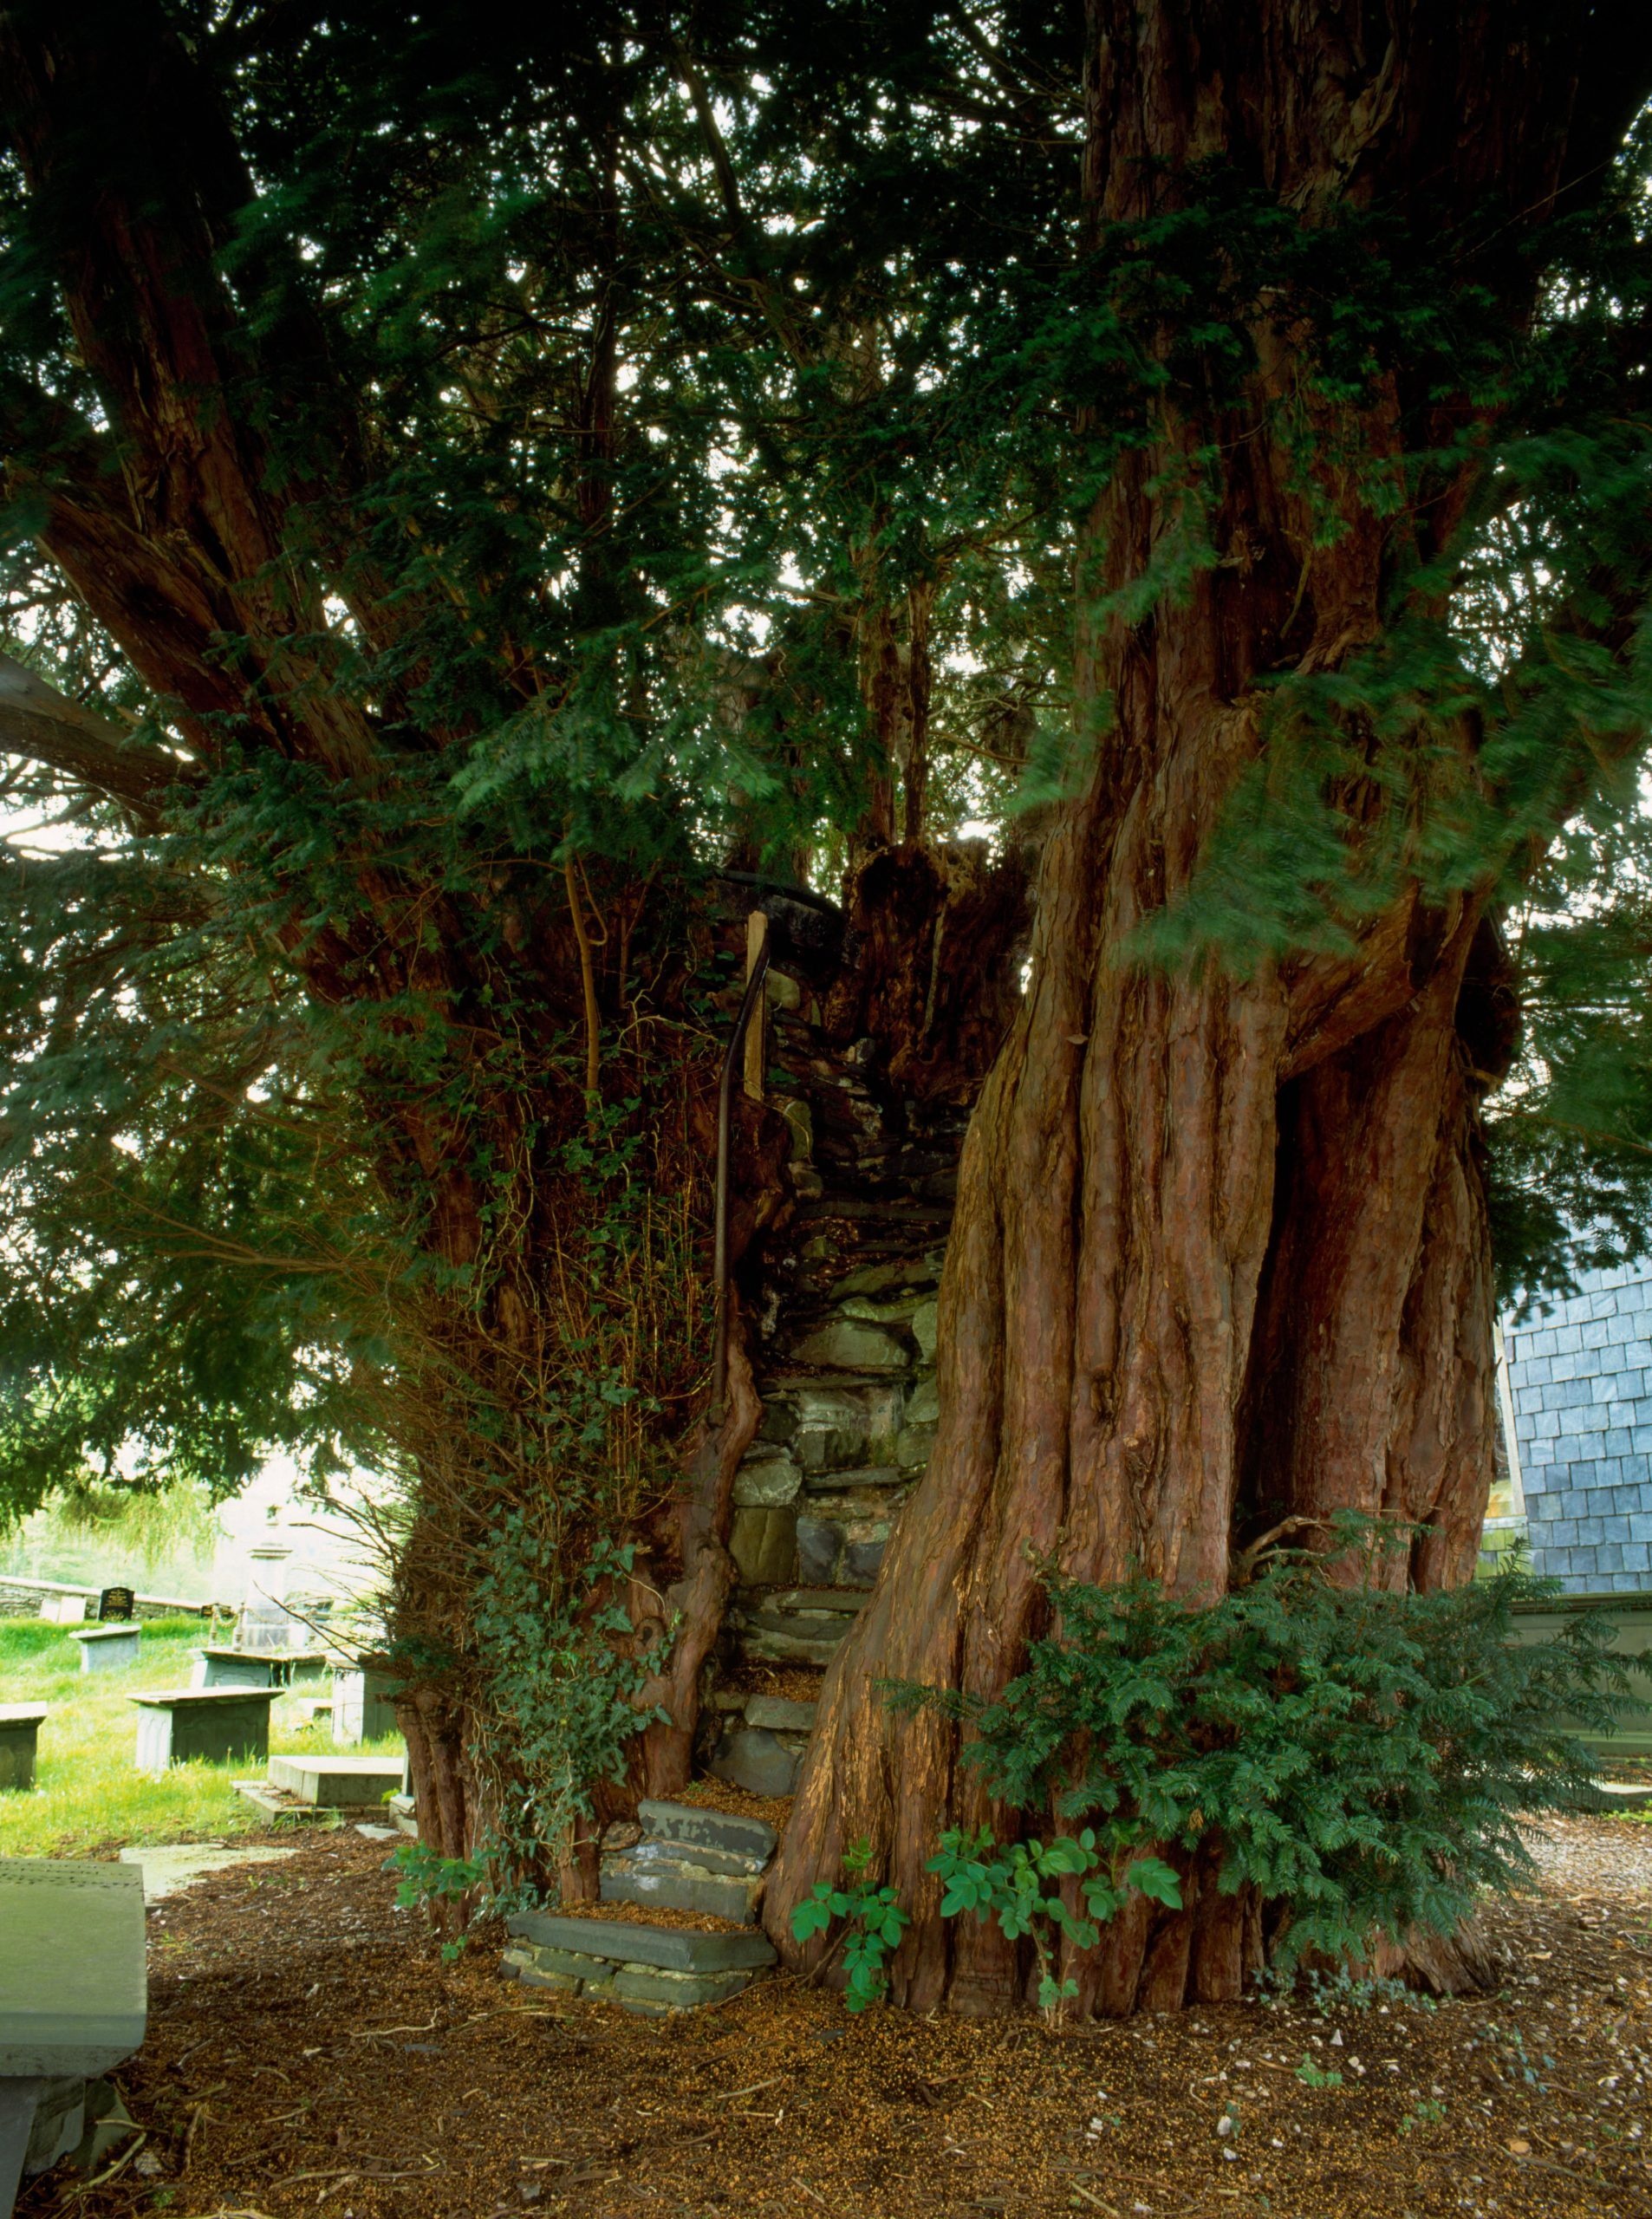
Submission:
<svg viewBox="0 0 1652 2219">
<path fill-rule="evenodd" d="M 144 1875 L 0 1857 L 0 2077 L 91 2079 L 144 2039 Z"/>
</svg>

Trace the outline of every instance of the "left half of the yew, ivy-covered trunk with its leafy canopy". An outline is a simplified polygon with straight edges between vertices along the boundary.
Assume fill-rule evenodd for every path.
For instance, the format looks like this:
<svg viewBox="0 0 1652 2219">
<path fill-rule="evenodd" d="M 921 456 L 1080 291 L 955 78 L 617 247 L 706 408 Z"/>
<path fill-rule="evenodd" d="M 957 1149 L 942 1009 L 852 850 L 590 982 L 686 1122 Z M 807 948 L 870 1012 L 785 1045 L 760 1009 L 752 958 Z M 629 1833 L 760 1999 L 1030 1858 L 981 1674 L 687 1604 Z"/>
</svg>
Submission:
<svg viewBox="0 0 1652 2219">
<path fill-rule="evenodd" d="M 388 1460 L 426 1840 L 512 1877 L 588 1886 L 574 1822 L 683 1777 L 732 1580 L 738 1351 L 685 1493 L 676 1460 L 705 870 L 860 857 L 896 774 L 914 841 L 962 814 L 967 766 L 920 801 L 925 650 L 1042 550 L 936 355 L 982 211 L 1060 231 L 1073 146 L 960 135 L 929 95 L 993 93 L 938 24 L 825 62 L 743 11 L 554 51 L 373 4 L 0 33 L 0 743 L 84 828 L 4 850 L 7 1498 Z M 1049 686 L 1036 630 L 1007 697 Z M 745 1123 L 736 1245 L 778 1200 Z"/>
</svg>

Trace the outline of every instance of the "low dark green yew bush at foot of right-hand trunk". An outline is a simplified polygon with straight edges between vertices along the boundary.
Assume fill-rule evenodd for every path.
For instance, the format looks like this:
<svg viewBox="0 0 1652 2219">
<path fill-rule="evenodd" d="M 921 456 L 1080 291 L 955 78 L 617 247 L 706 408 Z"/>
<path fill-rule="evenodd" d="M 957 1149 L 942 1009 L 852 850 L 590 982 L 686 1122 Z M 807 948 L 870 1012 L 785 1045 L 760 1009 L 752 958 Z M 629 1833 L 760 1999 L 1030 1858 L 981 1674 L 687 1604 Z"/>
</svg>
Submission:
<svg viewBox="0 0 1652 2219">
<path fill-rule="evenodd" d="M 1355 1547 L 1370 1569 L 1384 1544 Z M 1348 1567 L 1291 1553 L 1211 1604 L 1051 1575 L 1053 1627 L 998 1702 L 889 1700 L 962 1720 L 993 1800 L 1089 1835 L 1089 1857 L 1107 1844 L 1122 1884 L 1131 1857 L 1162 1855 L 1255 1888 L 1286 1966 L 1359 1957 L 1373 1933 L 1450 1933 L 1483 1888 L 1530 1875 L 1521 1817 L 1581 1806 L 1579 1733 L 1612 1729 L 1643 1666 L 1612 1655 L 1597 1615 L 1515 1644 L 1515 1604 L 1552 1582 L 1415 1595 L 1344 1584 Z M 949 1844 L 954 1893 L 969 1851 Z"/>
</svg>

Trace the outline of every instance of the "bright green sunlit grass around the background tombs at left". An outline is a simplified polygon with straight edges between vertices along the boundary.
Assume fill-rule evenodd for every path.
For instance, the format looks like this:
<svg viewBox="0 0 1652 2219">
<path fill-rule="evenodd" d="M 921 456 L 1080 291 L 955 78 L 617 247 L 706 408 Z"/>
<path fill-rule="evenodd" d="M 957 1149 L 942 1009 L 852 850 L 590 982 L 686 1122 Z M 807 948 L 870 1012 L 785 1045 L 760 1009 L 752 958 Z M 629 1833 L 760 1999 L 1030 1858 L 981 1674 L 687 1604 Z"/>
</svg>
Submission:
<svg viewBox="0 0 1652 2219">
<path fill-rule="evenodd" d="M 255 1777 L 246 1757 L 233 1764 L 173 1764 L 151 1775 L 133 1766 L 137 1711 L 129 1695 L 188 1686 L 193 1651 L 206 1638 L 197 1618 L 144 1624 L 129 1671 L 80 1671 L 67 1627 L 35 1618 L 0 1620 L 0 1702 L 44 1702 L 35 1786 L 0 1791 L 0 1857 L 73 1857 L 89 1848 L 142 1842 L 215 1842 L 268 1817 L 233 1793 L 231 1780 Z M 271 1709 L 271 1751 L 330 1751 L 326 1722 L 308 1724 L 308 1702 L 326 1682 L 282 1695 Z M 364 1755 L 399 1753 L 397 1735 L 364 1742 Z"/>
</svg>

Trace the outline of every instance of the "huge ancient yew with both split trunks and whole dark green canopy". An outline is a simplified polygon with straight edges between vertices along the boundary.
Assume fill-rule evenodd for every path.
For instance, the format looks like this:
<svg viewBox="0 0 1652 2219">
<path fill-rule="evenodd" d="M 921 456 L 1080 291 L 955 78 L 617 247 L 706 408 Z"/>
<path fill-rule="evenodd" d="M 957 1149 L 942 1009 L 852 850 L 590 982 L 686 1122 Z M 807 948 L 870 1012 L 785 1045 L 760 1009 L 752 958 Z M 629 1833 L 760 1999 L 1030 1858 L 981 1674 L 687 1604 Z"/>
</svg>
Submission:
<svg viewBox="0 0 1652 2219">
<path fill-rule="evenodd" d="M 996 1063 L 767 1917 L 860 1840 L 1020 1997 L 885 1684 L 1339 1513 L 1459 1582 L 1492 1220 L 1643 1240 L 1648 93 L 1583 0 L 9 9 L 0 1500 L 392 1471 L 426 1842 L 590 1888 L 734 1580 L 743 912 L 838 901 L 836 1045 Z M 1215 1855 L 1087 2004 L 1237 1993 Z"/>
</svg>

